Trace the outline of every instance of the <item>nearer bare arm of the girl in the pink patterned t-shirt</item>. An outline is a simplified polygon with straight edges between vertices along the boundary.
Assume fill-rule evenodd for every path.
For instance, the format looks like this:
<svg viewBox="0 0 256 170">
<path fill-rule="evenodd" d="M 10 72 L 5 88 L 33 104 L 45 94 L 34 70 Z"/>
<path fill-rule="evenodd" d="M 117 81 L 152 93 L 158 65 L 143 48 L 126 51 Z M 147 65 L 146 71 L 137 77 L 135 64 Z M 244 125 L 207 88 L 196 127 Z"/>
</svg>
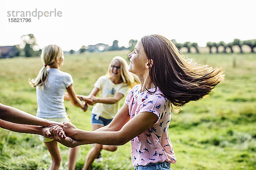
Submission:
<svg viewBox="0 0 256 170">
<path fill-rule="evenodd" d="M 116 118 L 120 118 L 120 117 L 116 116 L 114 119 Z M 130 121 L 128 121 L 127 123 L 125 123 L 125 125 L 123 125 L 120 130 L 93 131 L 93 132 L 77 129 L 76 127 L 74 127 L 74 125 L 67 122 L 63 127 L 63 130 L 65 131 L 65 133 L 70 134 L 70 131 L 73 131 L 73 136 L 71 136 L 71 138 L 75 138 L 79 140 L 72 139 L 72 141 L 70 142 L 67 142 L 65 140 L 59 140 L 58 142 L 61 142 L 64 145 L 67 145 L 67 143 L 69 143 L 68 144 L 69 147 L 70 146 L 75 147 L 81 144 L 93 144 L 93 143 L 107 144 L 107 145 L 122 145 L 127 143 L 134 137 L 140 135 L 149 127 L 154 125 L 157 119 L 158 119 L 157 115 L 151 112 L 142 112 L 142 113 L 139 113 Z M 121 119 L 121 122 L 123 123 L 125 121 Z M 116 128 L 117 127 L 119 127 L 119 125 L 117 125 Z M 106 130 L 106 129 L 102 128 L 102 130 Z M 57 130 L 53 129 L 53 127 L 51 128 L 51 133 L 52 133 L 52 136 L 58 135 Z M 67 136 L 69 136 L 68 134 Z"/>
</svg>

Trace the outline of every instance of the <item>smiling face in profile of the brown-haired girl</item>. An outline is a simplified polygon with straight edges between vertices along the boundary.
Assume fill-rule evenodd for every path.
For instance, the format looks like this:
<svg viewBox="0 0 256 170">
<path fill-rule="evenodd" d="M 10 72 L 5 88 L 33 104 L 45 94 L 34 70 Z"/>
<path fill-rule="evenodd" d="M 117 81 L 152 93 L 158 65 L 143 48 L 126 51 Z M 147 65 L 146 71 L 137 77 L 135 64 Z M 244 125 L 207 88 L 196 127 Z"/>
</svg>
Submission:
<svg viewBox="0 0 256 170">
<path fill-rule="evenodd" d="M 141 42 L 138 42 L 130 54 L 128 54 L 128 58 L 130 58 L 129 71 L 136 74 L 137 76 L 142 75 L 145 71 L 148 71 L 148 58 L 143 49 L 143 45 Z"/>
</svg>

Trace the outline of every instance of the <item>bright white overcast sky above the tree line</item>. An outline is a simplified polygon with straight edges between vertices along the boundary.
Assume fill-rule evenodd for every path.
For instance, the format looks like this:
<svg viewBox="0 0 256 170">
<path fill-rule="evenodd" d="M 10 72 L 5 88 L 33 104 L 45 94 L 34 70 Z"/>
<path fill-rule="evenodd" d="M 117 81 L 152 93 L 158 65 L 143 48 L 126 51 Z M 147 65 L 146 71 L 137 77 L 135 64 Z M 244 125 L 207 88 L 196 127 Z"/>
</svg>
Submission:
<svg viewBox="0 0 256 170">
<path fill-rule="evenodd" d="M 65 51 L 112 45 L 113 40 L 127 47 L 130 39 L 149 34 L 200 46 L 208 41 L 250 40 L 256 39 L 255 7 L 256 0 L 1 0 L 0 45 L 19 44 L 24 34 L 34 34 L 41 48 L 56 44 Z M 62 16 L 9 22 L 17 17 L 8 17 L 8 11 L 35 9 L 56 9 Z"/>
</svg>

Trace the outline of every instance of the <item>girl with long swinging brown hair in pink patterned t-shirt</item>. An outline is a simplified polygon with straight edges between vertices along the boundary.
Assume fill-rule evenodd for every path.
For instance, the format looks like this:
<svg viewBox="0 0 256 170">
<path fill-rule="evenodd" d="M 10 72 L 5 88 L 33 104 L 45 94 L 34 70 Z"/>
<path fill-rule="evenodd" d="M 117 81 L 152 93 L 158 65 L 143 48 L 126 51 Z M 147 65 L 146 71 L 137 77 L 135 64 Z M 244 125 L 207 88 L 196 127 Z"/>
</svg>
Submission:
<svg viewBox="0 0 256 170">
<path fill-rule="evenodd" d="M 160 35 L 143 37 L 130 54 L 129 71 L 140 79 L 113 121 L 96 131 L 77 129 L 64 122 L 66 139 L 54 139 L 69 147 L 81 144 L 122 145 L 131 140 L 135 170 L 170 170 L 176 157 L 169 138 L 171 110 L 209 94 L 224 74 L 219 68 L 184 59 L 176 46 Z"/>
</svg>

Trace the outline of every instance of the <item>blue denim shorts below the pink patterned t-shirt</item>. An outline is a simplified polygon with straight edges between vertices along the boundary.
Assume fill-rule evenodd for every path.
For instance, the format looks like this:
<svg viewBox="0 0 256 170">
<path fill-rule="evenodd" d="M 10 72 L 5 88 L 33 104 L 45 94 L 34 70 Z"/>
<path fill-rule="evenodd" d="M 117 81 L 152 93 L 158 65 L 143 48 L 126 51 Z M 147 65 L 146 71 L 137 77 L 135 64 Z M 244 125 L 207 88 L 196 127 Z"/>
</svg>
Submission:
<svg viewBox="0 0 256 170">
<path fill-rule="evenodd" d="M 134 167 L 134 170 L 172 170 L 171 164 L 167 161 L 149 163 L 146 166 Z"/>
</svg>

